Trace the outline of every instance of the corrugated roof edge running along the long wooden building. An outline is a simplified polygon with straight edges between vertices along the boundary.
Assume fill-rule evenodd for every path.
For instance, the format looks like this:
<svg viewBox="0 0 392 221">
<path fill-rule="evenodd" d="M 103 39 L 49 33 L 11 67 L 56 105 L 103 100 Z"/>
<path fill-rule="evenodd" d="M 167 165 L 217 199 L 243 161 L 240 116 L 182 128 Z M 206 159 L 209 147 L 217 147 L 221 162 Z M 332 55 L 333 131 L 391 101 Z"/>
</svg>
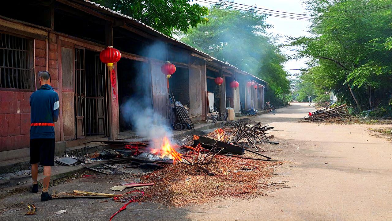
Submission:
<svg viewBox="0 0 392 221">
<path fill-rule="evenodd" d="M 193 46 L 191 46 L 191 45 L 189 45 L 189 44 L 185 44 L 184 42 L 178 41 L 177 39 L 174 39 L 174 38 L 172 38 L 172 37 L 170 37 L 170 36 L 167 36 L 167 35 L 163 34 L 162 32 L 160 32 L 160 31 L 158 31 L 158 30 L 152 28 L 151 26 L 148 26 L 147 24 L 144 24 L 143 22 L 141 22 L 141 21 L 139 21 L 139 20 L 137 20 L 137 19 L 135 19 L 135 18 L 129 17 L 128 15 L 124 15 L 124 14 L 119 13 L 119 12 L 117 12 L 117 11 L 113 11 L 113 10 L 109 9 L 108 7 L 101 6 L 100 4 L 97 4 L 97 3 L 95 3 L 95 2 L 91 2 L 90 0 L 82 0 L 82 1 L 83 1 L 83 2 L 87 2 L 87 3 L 89 3 L 89 4 L 91 4 L 91 5 L 95 6 L 95 7 L 100 8 L 100 9 L 104 9 L 104 10 L 106 10 L 106 11 L 109 11 L 109 12 L 113 13 L 114 15 L 118 15 L 118 16 L 120 16 L 120 17 L 127 18 L 127 19 L 129 19 L 129 20 L 131 20 L 131 21 L 133 21 L 133 22 L 137 22 L 137 23 L 139 23 L 139 24 L 145 26 L 146 28 L 149 28 L 149 29 L 151 29 L 152 31 L 155 31 L 156 33 L 162 35 L 163 37 L 168 38 L 168 39 L 170 39 L 171 41 L 175 41 L 175 42 L 177 42 L 177 43 L 179 43 L 179 44 L 182 44 L 183 46 L 187 46 L 188 48 L 192 49 L 194 52 L 200 53 L 201 55 L 203 55 L 203 56 L 205 56 L 205 57 L 207 57 L 207 58 L 210 58 L 210 59 L 212 59 L 213 61 L 218 61 L 218 62 L 221 63 L 221 64 L 225 64 L 225 65 L 227 65 L 227 66 L 230 66 L 230 67 L 232 67 L 232 68 L 235 68 L 235 69 L 237 69 L 237 70 L 239 70 L 239 71 L 241 71 L 241 72 L 243 72 L 243 73 L 245 73 L 245 74 L 249 74 L 250 76 L 252 76 L 252 77 L 254 77 L 254 78 L 256 78 L 256 79 L 258 79 L 258 80 L 260 80 L 260 81 L 263 81 L 263 82 L 265 82 L 266 84 L 268 84 L 267 81 L 264 81 L 263 79 L 260 79 L 260 78 L 254 76 L 254 75 L 252 75 L 252 74 L 250 74 L 250 73 L 248 73 L 248 72 L 245 72 L 245 71 L 241 70 L 240 68 L 237 68 L 236 66 L 231 65 L 231 64 L 229 64 L 229 63 L 227 63 L 227 62 L 220 61 L 219 59 L 216 59 L 216 58 L 212 57 L 211 55 L 209 55 L 209 54 L 207 54 L 207 53 L 205 53 L 205 52 L 202 52 L 202 51 L 198 50 L 197 48 L 195 48 L 195 47 L 193 47 Z"/>
</svg>

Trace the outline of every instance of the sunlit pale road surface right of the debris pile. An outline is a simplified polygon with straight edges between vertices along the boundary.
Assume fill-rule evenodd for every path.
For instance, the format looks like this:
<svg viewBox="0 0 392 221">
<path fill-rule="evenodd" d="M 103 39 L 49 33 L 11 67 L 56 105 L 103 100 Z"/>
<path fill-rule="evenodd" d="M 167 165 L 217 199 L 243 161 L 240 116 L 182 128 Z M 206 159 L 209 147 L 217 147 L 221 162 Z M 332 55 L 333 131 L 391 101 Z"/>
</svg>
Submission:
<svg viewBox="0 0 392 221">
<path fill-rule="evenodd" d="M 313 110 L 292 103 L 256 118 L 283 130 L 274 133 L 281 144 L 267 155 L 294 162 L 274 177 L 292 188 L 227 202 L 195 220 L 392 220 L 392 143 L 367 131 L 390 125 L 297 122 Z"/>
</svg>

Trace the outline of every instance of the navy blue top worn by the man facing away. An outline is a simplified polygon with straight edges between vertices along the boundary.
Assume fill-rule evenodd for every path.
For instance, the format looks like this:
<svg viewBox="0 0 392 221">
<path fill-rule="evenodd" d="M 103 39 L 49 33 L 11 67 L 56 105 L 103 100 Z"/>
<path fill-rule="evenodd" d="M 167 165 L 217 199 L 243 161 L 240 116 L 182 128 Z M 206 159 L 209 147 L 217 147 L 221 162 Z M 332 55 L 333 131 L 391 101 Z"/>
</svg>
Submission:
<svg viewBox="0 0 392 221">
<path fill-rule="evenodd" d="M 30 96 L 31 123 L 53 124 L 58 120 L 58 94 L 50 85 L 42 85 Z M 30 139 L 54 138 L 53 126 L 31 126 Z"/>
</svg>

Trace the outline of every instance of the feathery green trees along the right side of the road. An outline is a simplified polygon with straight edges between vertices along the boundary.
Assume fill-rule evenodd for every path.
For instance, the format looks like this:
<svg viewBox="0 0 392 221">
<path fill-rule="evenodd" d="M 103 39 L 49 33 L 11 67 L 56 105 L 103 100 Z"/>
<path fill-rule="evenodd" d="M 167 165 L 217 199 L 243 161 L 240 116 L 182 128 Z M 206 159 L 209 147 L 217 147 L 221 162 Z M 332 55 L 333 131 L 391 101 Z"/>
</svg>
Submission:
<svg viewBox="0 0 392 221">
<path fill-rule="evenodd" d="M 299 48 L 294 58 L 310 58 L 310 70 L 304 81 L 312 83 L 315 90 L 332 91 L 342 102 L 354 105 L 350 87 L 363 109 L 383 100 L 388 103 L 392 92 L 391 2 L 308 0 L 306 3 L 310 14 L 319 17 L 311 21 L 311 37 L 292 38 L 290 44 Z"/>
</svg>

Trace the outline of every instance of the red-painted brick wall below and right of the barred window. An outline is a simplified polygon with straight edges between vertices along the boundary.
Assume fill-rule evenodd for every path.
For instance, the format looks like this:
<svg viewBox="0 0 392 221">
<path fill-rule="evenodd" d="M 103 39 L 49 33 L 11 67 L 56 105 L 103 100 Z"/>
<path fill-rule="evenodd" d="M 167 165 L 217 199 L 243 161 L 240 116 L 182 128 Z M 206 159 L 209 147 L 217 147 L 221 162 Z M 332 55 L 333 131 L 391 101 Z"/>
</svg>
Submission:
<svg viewBox="0 0 392 221">
<path fill-rule="evenodd" d="M 57 61 L 57 38 L 56 35 L 50 34 L 48 71 L 51 74 L 51 85 L 56 92 L 59 90 Z M 46 70 L 45 41 L 35 40 L 35 65 L 36 84 L 40 87 L 37 73 Z M 32 92 L 0 90 L 0 152 L 29 147 L 31 94 Z M 59 122 L 55 123 L 54 130 L 56 141 L 60 141 Z"/>
</svg>

